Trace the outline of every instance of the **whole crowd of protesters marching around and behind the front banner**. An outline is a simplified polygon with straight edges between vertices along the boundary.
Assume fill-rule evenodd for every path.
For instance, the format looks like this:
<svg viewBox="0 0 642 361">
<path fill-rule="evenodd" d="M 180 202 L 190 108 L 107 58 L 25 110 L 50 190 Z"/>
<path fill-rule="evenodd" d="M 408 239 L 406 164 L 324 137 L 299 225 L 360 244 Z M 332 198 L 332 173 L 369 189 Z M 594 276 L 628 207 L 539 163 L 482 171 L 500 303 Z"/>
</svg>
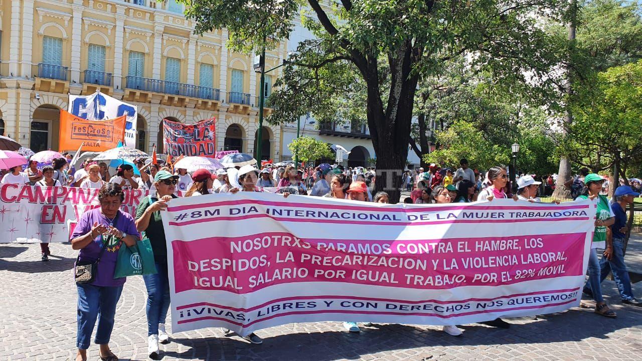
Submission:
<svg viewBox="0 0 642 361">
<path fill-rule="evenodd" d="M 177 159 L 176 161 L 178 161 Z M 175 162 L 176 163 L 176 162 Z M 175 164 L 174 163 L 174 164 Z M 169 277 L 165 233 L 160 213 L 168 202 L 177 197 L 196 197 L 213 193 L 236 193 L 238 191 L 270 191 L 273 193 L 309 195 L 346 199 L 352 202 L 388 203 L 388 193 L 380 191 L 372 195 L 376 172 L 374 168 L 345 168 L 336 164 L 320 164 L 316 167 L 297 167 L 296 164 L 264 164 L 260 169 L 252 165 L 235 166 L 210 172 L 199 169 L 187 173 L 175 169 L 172 164 L 145 163 L 134 160 L 121 164 L 110 174 L 106 163 L 87 159 L 75 172 L 69 172 L 67 159 L 54 159 L 51 165 L 37 168 L 31 162 L 24 171 L 21 166 L 11 168 L 2 177 L 3 183 L 29 184 L 32 186 L 69 186 L 100 189 L 100 208 L 80 216 L 71 234 L 73 249 L 80 250 L 78 264 L 94 262 L 97 275 L 89 283 L 78 284 L 78 357 L 86 360 L 92 330 L 98 321 L 94 342 L 100 345 L 102 360 L 117 360 L 108 343 L 116 317 L 116 303 L 121 296 L 125 278 L 114 279 L 116 256 L 123 244 L 133 245 L 148 239 L 152 245 L 157 273 L 143 276 L 148 294 L 146 316 L 148 320 L 148 353 L 160 355 L 159 343 L 169 342 L 165 327 L 169 310 Z M 494 166 L 486 172 L 469 167 L 461 159 L 459 167 L 440 168 L 430 164 L 428 170 L 406 170 L 403 189 L 410 191 L 404 203 L 444 204 L 492 201 L 495 198 L 513 198 L 540 202 L 538 197 L 542 182 L 532 175 L 521 175 L 516 187 L 511 187 L 506 168 Z M 594 311 L 605 317 L 616 317 L 603 301 L 601 283 L 612 271 L 624 304 L 640 306 L 632 294 L 630 279 L 623 260 L 623 238 L 627 233 L 625 209 L 639 196 L 640 184 L 620 186 L 614 199 L 609 202 L 602 195 L 605 179 L 600 175 L 581 170 L 566 186 L 574 198 L 598 198 L 597 217 L 593 246 L 589 256 L 588 281 L 584 293 L 596 302 Z M 135 215 L 119 210 L 123 202 L 123 189 L 149 189 L 141 200 Z M 178 189 L 184 189 L 178 192 Z M 516 189 L 516 191 L 514 191 Z M 559 202 L 558 202 L 559 203 Z M 603 249 L 598 253 L 597 249 Z M 42 260 L 48 260 L 48 243 L 41 243 Z M 600 257 L 601 254 L 601 257 Z M 100 263 L 98 262 L 100 260 Z M 508 328 L 510 324 L 501 319 L 483 322 L 489 326 Z M 344 322 L 346 330 L 360 331 L 355 321 Z M 462 335 L 454 324 L 444 326 L 449 335 Z M 245 337 L 249 342 L 260 344 L 261 338 L 252 333 Z"/>
</svg>

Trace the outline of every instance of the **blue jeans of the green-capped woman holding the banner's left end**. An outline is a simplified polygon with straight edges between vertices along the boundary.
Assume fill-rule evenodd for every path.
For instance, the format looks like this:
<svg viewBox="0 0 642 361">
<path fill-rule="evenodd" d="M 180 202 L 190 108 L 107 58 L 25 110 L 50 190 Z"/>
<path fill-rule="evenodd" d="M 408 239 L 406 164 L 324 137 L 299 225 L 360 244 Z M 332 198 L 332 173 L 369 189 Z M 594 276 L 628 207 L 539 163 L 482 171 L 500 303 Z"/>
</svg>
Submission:
<svg viewBox="0 0 642 361">
<path fill-rule="evenodd" d="M 159 323 L 165 323 L 169 310 L 167 262 L 156 262 L 156 273 L 143 275 L 147 288 L 147 335 L 158 335 Z"/>
</svg>

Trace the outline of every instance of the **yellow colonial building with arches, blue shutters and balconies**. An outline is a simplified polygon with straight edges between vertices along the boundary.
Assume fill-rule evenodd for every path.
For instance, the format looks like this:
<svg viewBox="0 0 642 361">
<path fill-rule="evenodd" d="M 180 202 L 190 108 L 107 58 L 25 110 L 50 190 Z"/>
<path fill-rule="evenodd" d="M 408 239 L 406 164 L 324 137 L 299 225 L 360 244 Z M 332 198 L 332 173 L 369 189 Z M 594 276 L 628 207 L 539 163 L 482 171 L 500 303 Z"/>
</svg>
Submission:
<svg viewBox="0 0 642 361">
<path fill-rule="evenodd" d="M 69 94 L 97 89 L 137 105 L 137 147 L 162 150 L 163 118 L 217 119 L 216 149 L 253 153 L 260 74 L 227 31 L 195 35 L 175 0 L 0 0 L 0 134 L 35 152 L 58 150 Z M 266 55 L 266 68 L 286 56 Z M 271 92 L 273 71 L 266 76 Z M 265 110 L 270 112 L 269 109 Z M 263 157 L 279 161 L 281 129 L 265 124 Z"/>
</svg>

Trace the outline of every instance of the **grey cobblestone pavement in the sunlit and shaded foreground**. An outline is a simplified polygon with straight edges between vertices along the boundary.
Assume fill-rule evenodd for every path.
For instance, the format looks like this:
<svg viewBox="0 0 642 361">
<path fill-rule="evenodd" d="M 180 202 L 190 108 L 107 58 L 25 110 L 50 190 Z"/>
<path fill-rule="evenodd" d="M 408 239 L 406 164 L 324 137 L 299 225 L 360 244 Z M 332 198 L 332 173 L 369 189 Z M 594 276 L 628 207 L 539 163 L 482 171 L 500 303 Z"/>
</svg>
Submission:
<svg viewBox="0 0 642 361">
<path fill-rule="evenodd" d="M 0 360 L 73 360 L 76 252 L 52 244 L 49 262 L 37 244 L 0 244 Z M 630 243 L 630 270 L 642 272 L 642 235 Z M 617 319 L 573 308 L 565 313 L 510 319 L 509 330 L 462 326 L 451 337 L 435 326 L 375 324 L 360 334 L 340 322 L 288 324 L 257 331 L 263 345 L 224 337 L 220 328 L 173 335 L 163 360 L 636 360 L 642 359 L 642 308 L 619 303 L 615 285 L 603 283 Z M 642 298 L 642 282 L 634 285 Z M 142 277 L 130 277 L 118 304 L 111 348 L 121 360 L 146 360 L 146 293 Z M 168 320 L 169 321 L 169 320 Z M 169 322 L 168 322 L 169 323 Z M 92 344 L 89 360 L 98 360 Z"/>
</svg>

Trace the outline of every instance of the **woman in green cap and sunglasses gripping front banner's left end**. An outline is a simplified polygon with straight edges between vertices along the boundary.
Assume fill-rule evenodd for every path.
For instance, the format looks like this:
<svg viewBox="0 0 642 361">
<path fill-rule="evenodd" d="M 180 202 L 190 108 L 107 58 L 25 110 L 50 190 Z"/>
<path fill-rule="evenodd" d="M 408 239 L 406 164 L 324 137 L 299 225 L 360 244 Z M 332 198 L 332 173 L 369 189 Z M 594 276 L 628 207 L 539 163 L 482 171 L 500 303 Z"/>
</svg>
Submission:
<svg viewBox="0 0 642 361">
<path fill-rule="evenodd" d="M 167 265 L 167 245 L 165 230 L 160 212 L 167 208 L 167 202 L 173 198 L 178 175 L 160 170 L 154 177 L 155 197 L 150 194 L 141 200 L 136 209 L 136 229 L 148 238 L 152 244 L 157 273 L 143 275 L 147 288 L 147 351 L 150 357 L 159 356 L 159 342 L 169 342 L 165 330 L 165 319 L 169 310 L 169 276 Z"/>
</svg>

